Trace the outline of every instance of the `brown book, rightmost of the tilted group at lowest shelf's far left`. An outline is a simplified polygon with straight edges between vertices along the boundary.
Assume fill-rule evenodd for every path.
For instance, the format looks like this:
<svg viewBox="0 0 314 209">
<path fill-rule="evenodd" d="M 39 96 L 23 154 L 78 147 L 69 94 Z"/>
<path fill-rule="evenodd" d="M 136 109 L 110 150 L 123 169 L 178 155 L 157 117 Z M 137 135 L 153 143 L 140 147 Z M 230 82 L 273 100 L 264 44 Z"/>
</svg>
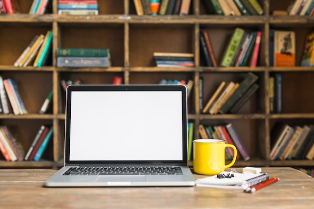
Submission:
<svg viewBox="0 0 314 209">
<path fill-rule="evenodd" d="M 18 158 L 17 160 L 19 161 L 23 160 L 24 155 L 25 155 L 25 150 L 19 138 L 12 134 L 11 130 L 8 128 L 7 125 L 1 126 L 0 131 L 2 131 L 5 137 L 7 137 L 7 139 L 9 140 L 9 143 L 11 147 L 13 148 L 15 155 Z"/>
</svg>

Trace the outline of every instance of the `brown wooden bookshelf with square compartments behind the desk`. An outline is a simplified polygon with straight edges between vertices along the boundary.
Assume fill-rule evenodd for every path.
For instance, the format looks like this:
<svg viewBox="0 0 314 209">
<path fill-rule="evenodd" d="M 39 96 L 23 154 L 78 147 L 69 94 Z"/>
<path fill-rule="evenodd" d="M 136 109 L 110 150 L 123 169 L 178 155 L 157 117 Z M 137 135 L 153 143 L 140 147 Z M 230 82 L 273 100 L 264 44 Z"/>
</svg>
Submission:
<svg viewBox="0 0 314 209">
<path fill-rule="evenodd" d="M 65 93 L 62 79 L 80 78 L 83 83 L 111 84 L 113 76 L 124 77 L 125 84 L 156 84 L 162 78 L 193 79 L 189 98 L 189 120 L 199 124 L 232 122 L 251 159 L 237 160 L 236 166 L 314 166 L 314 160 L 269 160 L 270 130 L 276 121 L 314 124 L 314 67 L 270 67 L 268 42 L 270 29 L 289 29 L 296 33 L 296 65 L 299 65 L 305 35 L 313 31 L 314 16 L 273 16 L 273 10 L 284 10 L 286 0 L 259 0 L 263 15 L 219 16 L 207 14 L 202 0 L 192 0 L 190 14 L 136 15 L 133 0 L 99 0 L 99 15 L 68 16 L 57 14 L 57 0 L 52 0 L 51 13 L 28 14 L 33 0 L 19 0 L 21 13 L 0 14 L 0 73 L 15 78 L 21 88 L 29 114 L 1 114 L 0 124 L 10 125 L 25 150 L 30 147 L 41 124 L 54 126 L 53 140 L 43 160 L 7 162 L 0 156 L 0 167 L 58 167 L 62 165 L 64 146 Z M 200 58 L 199 32 L 209 31 L 218 60 L 238 26 L 248 31 L 262 31 L 257 67 L 208 67 Z M 14 67 L 13 63 L 35 34 L 53 29 L 53 66 Z M 55 51 L 58 47 L 110 48 L 112 67 L 58 68 Z M 195 67 L 155 67 L 153 52 L 187 52 L 195 54 Z M 203 114 L 199 106 L 199 78 L 204 77 L 204 102 L 222 80 L 241 81 L 251 71 L 259 76 L 260 88 L 237 114 Z M 283 113 L 270 114 L 268 79 L 270 72 L 283 77 Z M 53 88 L 53 105 L 46 114 L 39 109 Z M 205 104 L 204 104 L 205 105 Z M 194 138 L 199 135 L 195 131 Z"/>
</svg>

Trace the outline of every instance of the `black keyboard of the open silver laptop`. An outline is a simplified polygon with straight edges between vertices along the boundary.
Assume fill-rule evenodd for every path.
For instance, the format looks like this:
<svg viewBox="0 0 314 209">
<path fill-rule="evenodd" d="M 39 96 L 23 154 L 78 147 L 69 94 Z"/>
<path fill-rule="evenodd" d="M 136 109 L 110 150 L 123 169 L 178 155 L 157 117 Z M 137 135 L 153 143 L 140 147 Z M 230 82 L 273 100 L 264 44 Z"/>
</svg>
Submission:
<svg viewBox="0 0 314 209">
<path fill-rule="evenodd" d="M 63 175 L 180 175 L 181 167 L 70 167 Z"/>
</svg>

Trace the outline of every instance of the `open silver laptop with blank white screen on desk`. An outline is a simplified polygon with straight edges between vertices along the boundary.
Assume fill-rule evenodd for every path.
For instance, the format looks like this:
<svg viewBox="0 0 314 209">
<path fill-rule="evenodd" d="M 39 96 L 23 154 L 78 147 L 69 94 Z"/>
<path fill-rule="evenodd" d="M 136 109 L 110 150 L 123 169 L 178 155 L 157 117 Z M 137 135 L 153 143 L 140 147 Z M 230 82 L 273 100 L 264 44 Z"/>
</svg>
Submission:
<svg viewBox="0 0 314 209">
<path fill-rule="evenodd" d="M 46 186 L 192 186 L 184 85 L 69 85 L 64 166 Z"/>
</svg>

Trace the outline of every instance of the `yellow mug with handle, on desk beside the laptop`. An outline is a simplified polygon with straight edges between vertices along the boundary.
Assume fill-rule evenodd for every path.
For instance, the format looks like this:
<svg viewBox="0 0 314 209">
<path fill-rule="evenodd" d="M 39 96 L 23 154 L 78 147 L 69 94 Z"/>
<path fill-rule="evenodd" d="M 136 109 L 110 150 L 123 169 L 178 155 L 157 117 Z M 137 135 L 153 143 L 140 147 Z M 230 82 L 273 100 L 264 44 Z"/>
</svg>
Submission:
<svg viewBox="0 0 314 209">
<path fill-rule="evenodd" d="M 233 159 L 225 164 L 225 148 L 234 150 Z M 193 169 L 196 173 L 216 175 L 231 167 L 237 157 L 237 149 L 233 144 L 225 143 L 222 139 L 193 140 Z"/>
</svg>

